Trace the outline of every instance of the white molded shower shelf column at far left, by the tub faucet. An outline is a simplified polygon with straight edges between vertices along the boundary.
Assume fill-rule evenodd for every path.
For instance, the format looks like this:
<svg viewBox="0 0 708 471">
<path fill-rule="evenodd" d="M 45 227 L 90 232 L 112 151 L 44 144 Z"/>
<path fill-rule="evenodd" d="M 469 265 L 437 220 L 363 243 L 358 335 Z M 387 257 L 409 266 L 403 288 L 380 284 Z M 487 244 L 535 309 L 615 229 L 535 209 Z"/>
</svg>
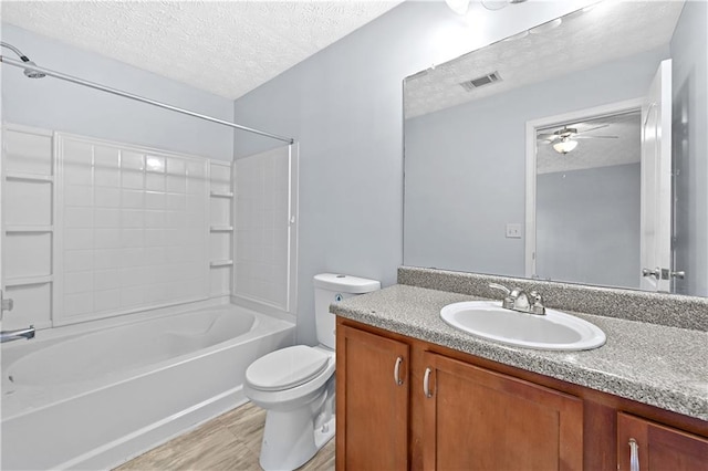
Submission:
<svg viewBox="0 0 708 471">
<path fill-rule="evenodd" d="M 3 329 L 52 326 L 55 177 L 53 133 L 2 125 L 2 289 L 14 307 Z"/>
</svg>

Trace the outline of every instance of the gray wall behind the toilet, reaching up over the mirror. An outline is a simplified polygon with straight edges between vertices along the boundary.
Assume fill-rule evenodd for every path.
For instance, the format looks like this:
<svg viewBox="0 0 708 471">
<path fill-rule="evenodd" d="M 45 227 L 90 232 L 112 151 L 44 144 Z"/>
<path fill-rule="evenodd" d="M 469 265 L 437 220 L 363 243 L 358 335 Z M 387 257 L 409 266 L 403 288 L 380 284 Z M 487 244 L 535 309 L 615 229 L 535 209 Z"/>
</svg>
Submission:
<svg viewBox="0 0 708 471">
<path fill-rule="evenodd" d="M 468 24 L 444 2 L 405 2 L 236 102 L 237 121 L 300 142 L 300 342 L 316 342 L 314 274 L 396 281 L 403 78 L 589 2 L 559 3 L 476 4 L 478 23 Z M 236 156 L 275 145 L 236 136 Z"/>
</svg>

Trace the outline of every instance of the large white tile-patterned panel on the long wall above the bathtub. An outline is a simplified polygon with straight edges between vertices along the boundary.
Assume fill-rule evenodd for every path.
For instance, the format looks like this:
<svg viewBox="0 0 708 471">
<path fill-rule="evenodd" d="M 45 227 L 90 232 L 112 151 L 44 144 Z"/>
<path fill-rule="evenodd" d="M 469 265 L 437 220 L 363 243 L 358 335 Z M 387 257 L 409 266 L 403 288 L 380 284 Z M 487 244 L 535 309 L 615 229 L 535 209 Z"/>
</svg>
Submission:
<svg viewBox="0 0 708 471">
<path fill-rule="evenodd" d="M 208 160 L 60 136 L 58 321 L 209 296 Z"/>
</svg>

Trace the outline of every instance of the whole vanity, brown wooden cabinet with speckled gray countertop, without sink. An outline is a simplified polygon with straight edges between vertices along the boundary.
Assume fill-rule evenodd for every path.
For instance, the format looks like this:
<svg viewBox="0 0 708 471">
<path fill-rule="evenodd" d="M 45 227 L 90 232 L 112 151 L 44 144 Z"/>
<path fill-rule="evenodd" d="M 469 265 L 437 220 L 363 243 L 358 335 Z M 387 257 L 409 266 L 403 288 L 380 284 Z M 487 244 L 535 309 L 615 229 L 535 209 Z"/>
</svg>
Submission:
<svg viewBox="0 0 708 471">
<path fill-rule="evenodd" d="M 574 312 L 604 346 L 506 346 L 440 320 L 479 299 L 478 280 L 451 276 L 450 291 L 397 284 L 331 307 L 337 469 L 629 470 L 633 453 L 642 470 L 708 469 L 704 328 Z"/>
</svg>

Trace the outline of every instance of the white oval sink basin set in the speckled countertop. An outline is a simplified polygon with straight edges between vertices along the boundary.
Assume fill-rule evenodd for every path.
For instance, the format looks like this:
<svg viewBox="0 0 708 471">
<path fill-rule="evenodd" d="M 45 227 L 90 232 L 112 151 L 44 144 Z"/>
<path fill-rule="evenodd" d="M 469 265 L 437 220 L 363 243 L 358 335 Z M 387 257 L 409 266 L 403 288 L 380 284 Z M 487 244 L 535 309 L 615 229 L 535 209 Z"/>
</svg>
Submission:
<svg viewBox="0 0 708 471">
<path fill-rule="evenodd" d="M 587 350 L 605 344 L 597 326 L 549 308 L 534 315 L 502 308 L 500 301 L 467 301 L 442 307 L 440 317 L 478 337 L 524 348 Z"/>
</svg>

